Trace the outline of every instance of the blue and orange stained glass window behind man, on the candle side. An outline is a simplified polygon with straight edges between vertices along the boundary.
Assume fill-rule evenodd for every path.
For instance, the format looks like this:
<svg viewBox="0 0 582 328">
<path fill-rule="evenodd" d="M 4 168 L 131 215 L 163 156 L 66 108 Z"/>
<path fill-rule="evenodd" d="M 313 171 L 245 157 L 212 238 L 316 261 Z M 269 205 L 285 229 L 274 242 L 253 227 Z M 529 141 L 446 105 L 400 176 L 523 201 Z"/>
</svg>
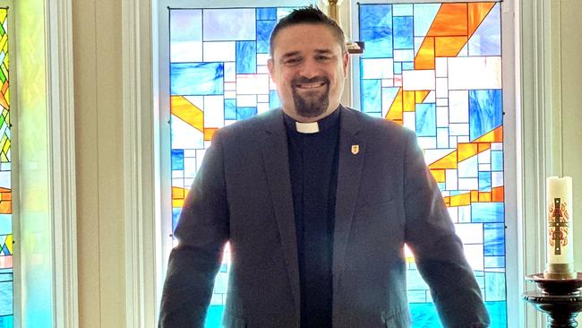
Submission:
<svg viewBox="0 0 582 328">
<path fill-rule="evenodd" d="M 415 131 L 482 289 L 507 326 L 500 3 L 359 4 L 361 109 Z M 407 251 L 415 327 L 439 326 Z"/>
</svg>

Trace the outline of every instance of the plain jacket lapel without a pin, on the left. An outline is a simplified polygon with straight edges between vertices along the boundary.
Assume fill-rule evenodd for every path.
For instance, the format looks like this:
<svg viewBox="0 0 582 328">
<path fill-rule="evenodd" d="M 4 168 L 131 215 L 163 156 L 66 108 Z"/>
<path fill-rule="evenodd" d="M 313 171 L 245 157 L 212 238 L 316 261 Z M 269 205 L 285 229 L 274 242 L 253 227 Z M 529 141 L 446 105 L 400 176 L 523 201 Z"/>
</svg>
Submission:
<svg viewBox="0 0 582 328">
<path fill-rule="evenodd" d="M 262 139 L 262 158 L 267 172 L 271 200 L 275 210 L 281 244 L 285 253 L 287 273 L 295 310 L 299 309 L 299 263 L 297 260 L 297 239 L 295 235 L 295 214 L 293 211 L 293 196 L 289 175 L 289 160 L 287 151 L 287 131 L 283 111 L 268 114 L 265 136 Z"/>
</svg>

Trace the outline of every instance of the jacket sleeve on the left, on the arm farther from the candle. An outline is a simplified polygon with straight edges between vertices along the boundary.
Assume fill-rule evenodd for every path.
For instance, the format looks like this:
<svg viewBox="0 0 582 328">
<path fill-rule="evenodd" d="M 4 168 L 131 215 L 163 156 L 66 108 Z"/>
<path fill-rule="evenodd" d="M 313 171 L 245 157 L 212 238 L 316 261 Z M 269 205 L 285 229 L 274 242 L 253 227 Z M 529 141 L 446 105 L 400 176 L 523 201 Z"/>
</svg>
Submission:
<svg viewBox="0 0 582 328">
<path fill-rule="evenodd" d="M 222 261 L 228 206 L 221 140 L 214 135 L 184 202 L 164 283 L 158 327 L 203 327 Z"/>
</svg>

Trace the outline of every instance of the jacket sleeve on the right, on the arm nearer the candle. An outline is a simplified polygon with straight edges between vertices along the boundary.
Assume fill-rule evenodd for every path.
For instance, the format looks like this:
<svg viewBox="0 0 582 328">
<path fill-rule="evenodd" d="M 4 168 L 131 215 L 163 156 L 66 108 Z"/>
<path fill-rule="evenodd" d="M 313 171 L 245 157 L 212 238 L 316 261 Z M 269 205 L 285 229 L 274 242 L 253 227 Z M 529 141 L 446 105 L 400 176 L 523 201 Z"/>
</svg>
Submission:
<svg viewBox="0 0 582 328">
<path fill-rule="evenodd" d="M 441 191 L 413 133 L 407 135 L 406 143 L 405 233 L 418 271 L 431 289 L 445 327 L 487 327 L 490 319 L 481 290 L 466 262 L 463 244 L 455 234 Z"/>
</svg>

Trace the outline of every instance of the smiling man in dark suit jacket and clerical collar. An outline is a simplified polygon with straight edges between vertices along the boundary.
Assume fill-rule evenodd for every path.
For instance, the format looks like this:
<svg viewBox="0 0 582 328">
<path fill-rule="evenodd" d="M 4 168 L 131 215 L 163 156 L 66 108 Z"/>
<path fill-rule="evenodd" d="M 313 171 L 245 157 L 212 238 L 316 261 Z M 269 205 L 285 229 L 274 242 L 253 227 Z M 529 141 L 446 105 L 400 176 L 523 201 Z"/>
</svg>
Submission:
<svg viewBox="0 0 582 328">
<path fill-rule="evenodd" d="M 278 22 L 282 108 L 215 134 L 175 229 L 160 327 L 202 326 L 227 241 L 227 327 L 408 327 L 405 242 L 442 324 L 489 324 L 415 135 L 339 104 L 344 39 L 315 8 Z"/>
</svg>

